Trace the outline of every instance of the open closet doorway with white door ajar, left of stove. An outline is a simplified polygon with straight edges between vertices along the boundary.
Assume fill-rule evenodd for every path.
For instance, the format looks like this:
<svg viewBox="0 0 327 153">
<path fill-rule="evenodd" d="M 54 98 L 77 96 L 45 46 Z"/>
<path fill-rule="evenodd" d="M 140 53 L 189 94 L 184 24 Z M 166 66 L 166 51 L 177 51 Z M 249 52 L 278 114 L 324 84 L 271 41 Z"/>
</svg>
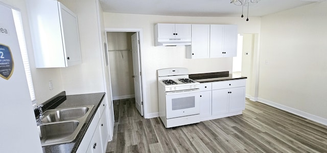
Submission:
<svg viewBox="0 0 327 153">
<path fill-rule="evenodd" d="M 112 99 L 135 98 L 139 114 L 146 116 L 146 96 L 142 67 L 142 30 L 105 29 Z M 144 98 L 143 98 L 144 97 Z M 128 111 L 128 110 L 127 110 Z"/>
</svg>

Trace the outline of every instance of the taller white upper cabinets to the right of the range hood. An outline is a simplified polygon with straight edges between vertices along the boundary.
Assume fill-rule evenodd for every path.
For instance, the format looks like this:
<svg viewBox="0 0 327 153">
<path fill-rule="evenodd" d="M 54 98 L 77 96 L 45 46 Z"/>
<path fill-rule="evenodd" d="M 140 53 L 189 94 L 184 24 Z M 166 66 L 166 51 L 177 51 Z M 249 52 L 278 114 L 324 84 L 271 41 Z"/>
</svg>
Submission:
<svg viewBox="0 0 327 153">
<path fill-rule="evenodd" d="M 192 25 L 186 58 L 234 57 L 236 53 L 237 25 Z"/>
</svg>

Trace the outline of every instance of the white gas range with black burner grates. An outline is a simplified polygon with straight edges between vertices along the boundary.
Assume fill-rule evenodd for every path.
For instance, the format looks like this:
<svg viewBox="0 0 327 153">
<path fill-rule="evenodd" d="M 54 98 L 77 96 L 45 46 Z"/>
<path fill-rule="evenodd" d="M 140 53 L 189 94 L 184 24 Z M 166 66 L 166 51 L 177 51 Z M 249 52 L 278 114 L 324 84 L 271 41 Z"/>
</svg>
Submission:
<svg viewBox="0 0 327 153">
<path fill-rule="evenodd" d="M 199 82 L 186 68 L 157 70 L 159 117 L 166 128 L 200 122 Z"/>
</svg>

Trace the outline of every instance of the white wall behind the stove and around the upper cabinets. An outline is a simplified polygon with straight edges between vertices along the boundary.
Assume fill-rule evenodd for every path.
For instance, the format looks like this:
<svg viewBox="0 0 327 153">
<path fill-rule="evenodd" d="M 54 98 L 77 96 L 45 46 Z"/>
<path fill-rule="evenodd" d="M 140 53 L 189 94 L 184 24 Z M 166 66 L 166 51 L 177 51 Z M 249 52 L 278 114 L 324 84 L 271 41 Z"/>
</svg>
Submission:
<svg viewBox="0 0 327 153">
<path fill-rule="evenodd" d="M 156 70 L 173 67 L 188 68 L 192 73 L 232 72 L 232 58 L 186 59 L 185 47 L 155 47 L 154 25 L 156 23 L 190 24 L 236 24 L 239 33 L 260 33 L 260 17 L 246 22 L 241 17 L 183 17 L 160 15 L 137 15 L 104 13 L 105 28 L 143 29 L 141 56 L 144 63 L 142 74 L 146 75 L 146 98 L 148 114 L 158 112 Z M 173 56 L 171 56 L 173 55 Z"/>
</svg>

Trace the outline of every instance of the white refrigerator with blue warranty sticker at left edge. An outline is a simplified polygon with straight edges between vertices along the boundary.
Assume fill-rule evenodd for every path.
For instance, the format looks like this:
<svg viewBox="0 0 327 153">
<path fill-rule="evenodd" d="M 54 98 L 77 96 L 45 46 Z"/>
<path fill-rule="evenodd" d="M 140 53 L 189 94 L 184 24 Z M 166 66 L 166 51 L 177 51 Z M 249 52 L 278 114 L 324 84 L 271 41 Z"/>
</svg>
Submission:
<svg viewBox="0 0 327 153">
<path fill-rule="evenodd" d="M 0 14 L 0 152 L 42 152 L 11 7 Z"/>
</svg>

